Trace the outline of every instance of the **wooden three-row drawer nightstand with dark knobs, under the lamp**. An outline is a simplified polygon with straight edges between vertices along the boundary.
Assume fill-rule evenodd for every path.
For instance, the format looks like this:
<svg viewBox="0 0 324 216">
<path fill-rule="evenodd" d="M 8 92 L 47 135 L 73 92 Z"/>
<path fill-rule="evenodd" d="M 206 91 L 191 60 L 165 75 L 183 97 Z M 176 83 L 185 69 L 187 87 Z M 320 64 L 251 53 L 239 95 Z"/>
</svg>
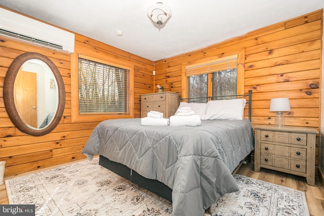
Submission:
<svg viewBox="0 0 324 216">
<path fill-rule="evenodd" d="M 255 126 L 254 170 L 260 167 L 306 177 L 315 184 L 314 128 L 292 126 Z"/>
</svg>

